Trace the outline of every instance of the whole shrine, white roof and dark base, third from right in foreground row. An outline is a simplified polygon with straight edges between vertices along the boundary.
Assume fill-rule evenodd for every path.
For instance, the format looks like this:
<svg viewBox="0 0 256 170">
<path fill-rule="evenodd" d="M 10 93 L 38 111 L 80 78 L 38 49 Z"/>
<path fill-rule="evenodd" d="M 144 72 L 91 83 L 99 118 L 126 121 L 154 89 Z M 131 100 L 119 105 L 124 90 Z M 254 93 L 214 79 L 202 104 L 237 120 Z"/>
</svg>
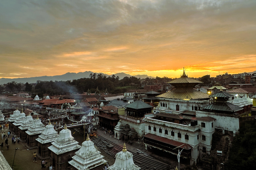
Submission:
<svg viewBox="0 0 256 170">
<path fill-rule="evenodd" d="M 72 156 L 78 151 L 81 146 L 74 140 L 71 131 L 67 129 L 66 125 L 60 131 L 58 139 L 52 142 L 48 147 L 51 151 L 50 159 L 54 170 L 67 170 L 71 168 L 68 161 L 72 160 Z"/>
</svg>

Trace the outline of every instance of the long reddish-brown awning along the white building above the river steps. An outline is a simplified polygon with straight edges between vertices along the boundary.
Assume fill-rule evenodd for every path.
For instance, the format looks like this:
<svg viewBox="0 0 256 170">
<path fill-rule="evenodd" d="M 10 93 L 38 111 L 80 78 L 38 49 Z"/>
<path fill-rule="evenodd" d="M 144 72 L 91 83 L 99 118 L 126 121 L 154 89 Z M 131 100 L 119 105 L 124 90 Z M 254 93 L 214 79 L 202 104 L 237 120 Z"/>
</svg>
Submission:
<svg viewBox="0 0 256 170">
<path fill-rule="evenodd" d="M 186 146 L 186 147 L 184 148 L 185 150 L 189 150 L 189 149 L 192 148 L 192 146 L 190 146 L 189 144 L 182 143 L 182 142 L 178 142 L 178 141 L 176 141 L 176 140 L 167 139 L 167 138 L 165 138 L 165 137 L 157 136 L 157 135 L 150 134 L 150 133 L 145 134 L 144 137 L 149 138 L 149 139 L 153 139 L 153 140 L 156 140 L 156 141 L 159 141 L 159 142 L 163 142 L 163 143 L 166 143 L 166 144 L 175 146 L 175 147 L 178 147 L 178 146 L 184 144 L 183 146 L 181 146 L 181 148 L 183 148 L 184 146 Z"/>
</svg>

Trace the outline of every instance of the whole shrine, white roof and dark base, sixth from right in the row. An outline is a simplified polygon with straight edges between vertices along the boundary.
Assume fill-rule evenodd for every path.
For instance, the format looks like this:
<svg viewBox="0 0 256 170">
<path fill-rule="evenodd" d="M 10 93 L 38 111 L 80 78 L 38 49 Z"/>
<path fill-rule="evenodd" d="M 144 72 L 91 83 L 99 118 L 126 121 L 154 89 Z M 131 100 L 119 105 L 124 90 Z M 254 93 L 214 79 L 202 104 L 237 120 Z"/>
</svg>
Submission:
<svg viewBox="0 0 256 170">
<path fill-rule="evenodd" d="M 27 139 L 27 133 L 26 131 L 28 130 L 29 126 L 32 125 L 34 122 L 32 116 L 28 114 L 26 116 L 25 120 L 20 124 L 18 127 L 20 129 L 20 141 L 24 142 Z"/>
</svg>

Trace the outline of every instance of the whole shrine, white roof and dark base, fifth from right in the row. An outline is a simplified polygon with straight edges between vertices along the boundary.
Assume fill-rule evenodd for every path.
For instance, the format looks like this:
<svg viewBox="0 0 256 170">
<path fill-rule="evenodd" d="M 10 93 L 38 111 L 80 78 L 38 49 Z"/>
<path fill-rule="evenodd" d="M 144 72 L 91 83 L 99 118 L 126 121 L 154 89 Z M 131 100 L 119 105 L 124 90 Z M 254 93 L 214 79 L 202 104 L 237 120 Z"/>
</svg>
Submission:
<svg viewBox="0 0 256 170">
<path fill-rule="evenodd" d="M 36 138 L 38 138 L 38 136 L 44 131 L 44 129 L 45 126 L 37 116 L 36 120 L 34 120 L 33 124 L 30 125 L 28 130 L 26 131 L 26 133 L 28 134 L 26 147 L 28 149 L 37 148 Z"/>
</svg>

